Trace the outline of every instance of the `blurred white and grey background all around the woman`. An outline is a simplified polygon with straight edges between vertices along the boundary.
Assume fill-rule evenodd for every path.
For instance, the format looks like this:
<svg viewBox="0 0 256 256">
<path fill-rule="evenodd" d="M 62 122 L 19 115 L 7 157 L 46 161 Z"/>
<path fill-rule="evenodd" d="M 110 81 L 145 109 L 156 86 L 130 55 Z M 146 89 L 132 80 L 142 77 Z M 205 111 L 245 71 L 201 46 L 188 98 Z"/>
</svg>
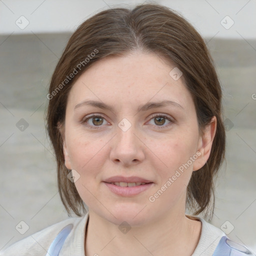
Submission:
<svg viewBox="0 0 256 256">
<path fill-rule="evenodd" d="M 44 128 L 49 79 L 96 12 L 153 1 L 0 0 L 0 249 L 68 218 Z M 256 253 L 256 1 L 158 0 L 203 36 L 223 89 L 226 163 L 211 223 Z"/>
</svg>

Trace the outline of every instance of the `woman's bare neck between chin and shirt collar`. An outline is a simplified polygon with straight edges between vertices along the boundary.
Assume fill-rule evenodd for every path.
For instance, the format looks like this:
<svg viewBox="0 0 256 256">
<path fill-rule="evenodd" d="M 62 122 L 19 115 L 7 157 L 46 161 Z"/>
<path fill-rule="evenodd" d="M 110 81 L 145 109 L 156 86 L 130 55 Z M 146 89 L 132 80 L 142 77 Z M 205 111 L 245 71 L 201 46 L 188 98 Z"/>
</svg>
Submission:
<svg viewBox="0 0 256 256">
<path fill-rule="evenodd" d="M 89 210 L 85 255 L 182 255 L 190 256 L 200 237 L 201 222 L 170 211 L 126 233 L 118 225 Z"/>
</svg>

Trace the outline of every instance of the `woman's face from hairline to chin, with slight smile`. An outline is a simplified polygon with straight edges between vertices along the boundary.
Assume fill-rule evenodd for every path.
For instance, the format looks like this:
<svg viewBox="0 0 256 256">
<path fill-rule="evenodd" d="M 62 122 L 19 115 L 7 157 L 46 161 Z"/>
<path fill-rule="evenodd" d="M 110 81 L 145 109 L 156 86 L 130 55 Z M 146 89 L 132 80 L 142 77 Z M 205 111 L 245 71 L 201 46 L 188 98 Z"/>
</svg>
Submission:
<svg viewBox="0 0 256 256">
<path fill-rule="evenodd" d="M 65 165 L 79 176 L 75 186 L 91 214 L 134 226 L 184 215 L 186 187 L 207 160 L 212 129 L 208 142 L 199 136 L 192 97 L 182 76 L 169 74 L 173 67 L 133 52 L 93 63 L 73 84 Z"/>
</svg>

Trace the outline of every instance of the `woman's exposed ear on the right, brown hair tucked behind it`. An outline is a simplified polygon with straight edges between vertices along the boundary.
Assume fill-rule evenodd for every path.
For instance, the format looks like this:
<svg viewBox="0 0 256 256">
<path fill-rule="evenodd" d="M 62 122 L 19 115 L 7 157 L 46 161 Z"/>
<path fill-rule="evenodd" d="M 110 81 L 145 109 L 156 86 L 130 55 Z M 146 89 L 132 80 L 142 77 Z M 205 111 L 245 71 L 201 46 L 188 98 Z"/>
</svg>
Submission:
<svg viewBox="0 0 256 256">
<path fill-rule="evenodd" d="M 212 146 L 212 141 L 215 136 L 217 127 L 217 118 L 213 116 L 210 123 L 205 127 L 203 135 L 198 139 L 197 152 L 200 152 L 200 155 L 193 163 L 193 170 L 200 169 L 208 160 L 210 155 L 210 150 Z M 199 153 L 197 153 L 198 155 Z"/>
</svg>

